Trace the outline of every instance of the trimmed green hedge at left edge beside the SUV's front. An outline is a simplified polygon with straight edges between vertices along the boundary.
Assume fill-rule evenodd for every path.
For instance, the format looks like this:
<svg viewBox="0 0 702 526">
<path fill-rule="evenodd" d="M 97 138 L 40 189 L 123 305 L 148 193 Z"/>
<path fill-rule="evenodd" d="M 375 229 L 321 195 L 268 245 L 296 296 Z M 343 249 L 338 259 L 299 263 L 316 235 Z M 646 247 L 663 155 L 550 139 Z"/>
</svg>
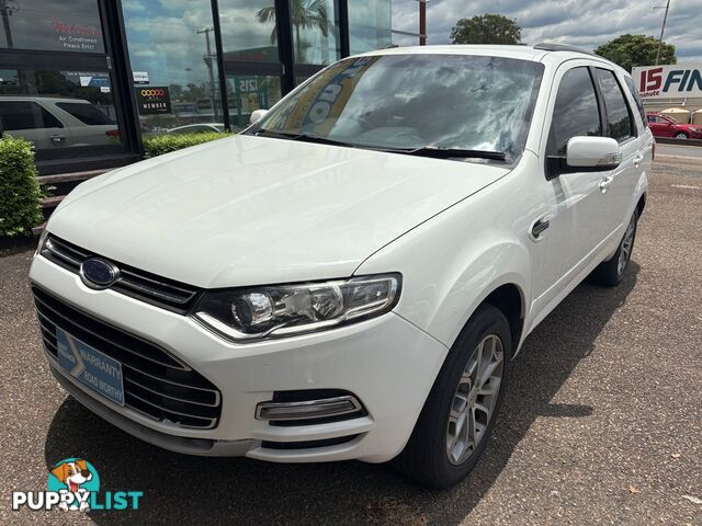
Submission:
<svg viewBox="0 0 702 526">
<path fill-rule="evenodd" d="M 44 220 L 36 175 L 32 142 L 3 135 L 0 138 L 0 237 L 27 235 Z"/>
</svg>

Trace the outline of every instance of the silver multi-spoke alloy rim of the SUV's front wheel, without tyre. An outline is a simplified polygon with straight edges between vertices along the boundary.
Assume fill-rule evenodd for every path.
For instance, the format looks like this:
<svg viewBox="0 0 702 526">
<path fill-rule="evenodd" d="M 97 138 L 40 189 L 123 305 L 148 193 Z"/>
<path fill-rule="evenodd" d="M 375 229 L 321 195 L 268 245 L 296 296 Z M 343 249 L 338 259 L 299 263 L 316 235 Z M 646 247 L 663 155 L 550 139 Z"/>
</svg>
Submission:
<svg viewBox="0 0 702 526">
<path fill-rule="evenodd" d="M 488 334 L 475 347 L 458 380 L 446 426 L 446 455 L 461 465 L 477 449 L 495 412 L 505 371 L 505 347 Z"/>
</svg>

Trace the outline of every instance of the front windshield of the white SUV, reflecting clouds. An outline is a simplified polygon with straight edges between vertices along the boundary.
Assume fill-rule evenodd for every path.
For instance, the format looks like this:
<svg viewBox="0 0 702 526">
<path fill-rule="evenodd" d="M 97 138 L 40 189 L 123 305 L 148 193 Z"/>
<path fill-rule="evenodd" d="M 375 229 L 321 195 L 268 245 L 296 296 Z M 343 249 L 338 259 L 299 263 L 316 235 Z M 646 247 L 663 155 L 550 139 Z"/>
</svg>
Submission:
<svg viewBox="0 0 702 526">
<path fill-rule="evenodd" d="M 510 160 L 524 148 L 542 73 L 539 62 L 471 55 L 349 58 L 247 133 Z"/>
</svg>

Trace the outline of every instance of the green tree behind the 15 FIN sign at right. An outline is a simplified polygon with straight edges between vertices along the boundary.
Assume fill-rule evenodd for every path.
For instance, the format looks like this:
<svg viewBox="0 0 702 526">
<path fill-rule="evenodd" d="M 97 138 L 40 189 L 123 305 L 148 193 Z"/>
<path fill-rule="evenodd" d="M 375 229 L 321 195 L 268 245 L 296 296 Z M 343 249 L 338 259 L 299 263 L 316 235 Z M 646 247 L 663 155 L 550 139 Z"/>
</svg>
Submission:
<svg viewBox="0 0 702 526">
<path fill-rule="evenodd" d="M 631 71 L 635 66 L 652 66 L 656 62 L 658 38 L 646 35 L 621 35 L 602 44 L 595 53 Z M 677 62 L 676 46 L 664 42 L 658 64 Z"/>
</svg>

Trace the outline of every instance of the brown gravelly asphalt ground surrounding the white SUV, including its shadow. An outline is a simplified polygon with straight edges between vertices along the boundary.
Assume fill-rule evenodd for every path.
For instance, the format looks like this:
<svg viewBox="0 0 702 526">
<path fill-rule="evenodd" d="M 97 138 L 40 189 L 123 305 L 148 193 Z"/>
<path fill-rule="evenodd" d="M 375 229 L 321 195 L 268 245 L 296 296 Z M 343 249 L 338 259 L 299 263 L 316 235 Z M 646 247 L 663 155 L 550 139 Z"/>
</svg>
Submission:
<svg viewBox="0 0 702 526">
<path fill-rule="evenodd" d="M 450 491 L 387 466 L 197 458 L 68 399 L 43 357 L 27 270 L 0 258 L 0 524 L 702 526 L 702 160 L 660 157 L 619 288 L 579 286 L 526 340 L 492 441 Z M 81 457 L 138 511 L 13 512 Z"/>
</svg>

